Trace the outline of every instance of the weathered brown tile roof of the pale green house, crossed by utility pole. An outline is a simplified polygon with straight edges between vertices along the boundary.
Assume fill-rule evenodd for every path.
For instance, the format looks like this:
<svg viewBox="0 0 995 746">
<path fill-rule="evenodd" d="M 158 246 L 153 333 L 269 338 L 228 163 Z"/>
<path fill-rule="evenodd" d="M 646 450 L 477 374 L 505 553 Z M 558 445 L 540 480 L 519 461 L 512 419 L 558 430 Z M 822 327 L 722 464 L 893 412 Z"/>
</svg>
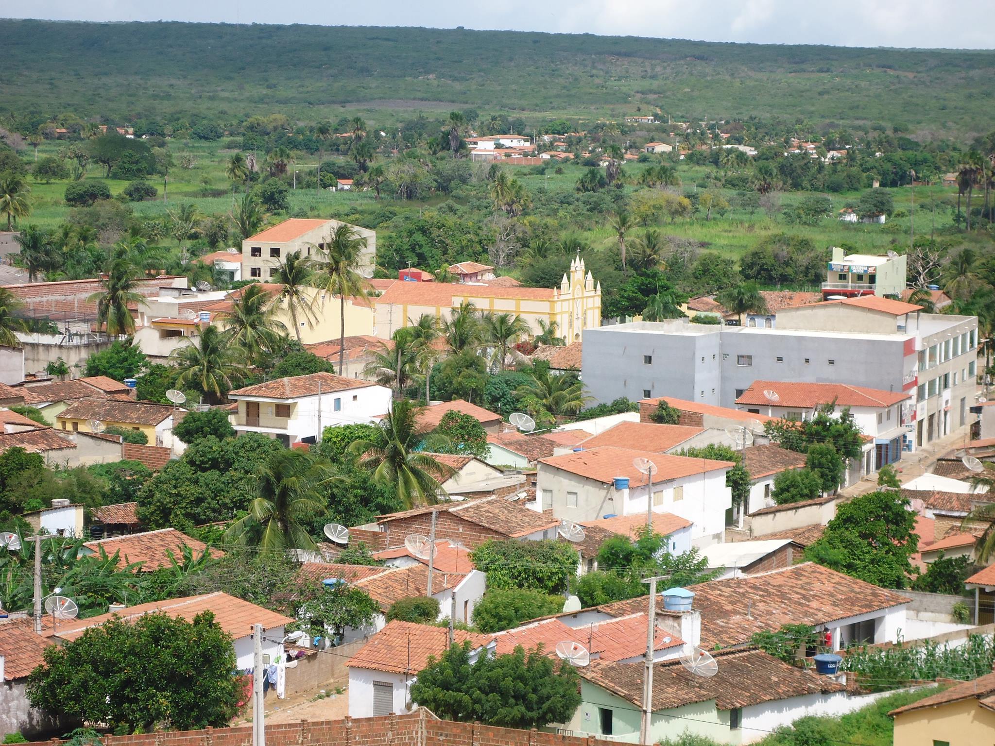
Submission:
<svg viewBox="0 0 995 746">
<path fill-rule="evenodd" d="M 711 654 L 718 663 L 718 672 L 710 677 L 695 675 L 680 660 L 656 663 L 653 669 L 653 711 L 709 700 L 715 701 L 717 709 L 730 710 L 846 689 L 834 678 L 789 665 L 756 649 L 716 651 Z M 586 668 L 579 668 L 578 672 L 588 681 L 634 704 L 642 703 L 641 663 L 594 661 Z"/>
</svg>

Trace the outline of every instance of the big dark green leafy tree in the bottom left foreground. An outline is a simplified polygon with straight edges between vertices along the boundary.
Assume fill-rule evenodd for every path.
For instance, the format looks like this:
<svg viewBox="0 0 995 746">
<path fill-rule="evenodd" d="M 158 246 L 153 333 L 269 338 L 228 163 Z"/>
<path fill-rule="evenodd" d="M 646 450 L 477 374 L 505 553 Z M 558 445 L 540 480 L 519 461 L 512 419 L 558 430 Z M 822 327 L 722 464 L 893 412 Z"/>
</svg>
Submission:
<svg viewBox="0 0 995 746">
<path fill-rule="evenodd" d="M 34 707 L 112 728 L 222 727 L 238 712 L 241 684 L 232 639 L 204 612 L 111 620 L 45 649 L 28 678 Z M 178 675 L 196 671 L 196 675 Z"/>
</svg>

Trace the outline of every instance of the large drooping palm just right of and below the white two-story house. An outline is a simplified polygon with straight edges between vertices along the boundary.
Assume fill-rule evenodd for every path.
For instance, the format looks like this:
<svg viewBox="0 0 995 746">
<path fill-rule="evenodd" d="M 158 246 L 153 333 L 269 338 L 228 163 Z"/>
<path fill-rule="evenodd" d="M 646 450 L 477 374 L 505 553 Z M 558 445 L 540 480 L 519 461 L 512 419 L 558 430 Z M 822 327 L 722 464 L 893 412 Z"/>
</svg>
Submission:
<svg viewBox="0 0 995 746">
<path fill-rule="evenodd" d="M 405 507 L 433 505 L 446 498 L 440 479 L 453 474 L 450 466 L 416 449 L 423 436 L 418 430 L 420 408 L 402 399 L 379 424 L 375 440 L 355 441 L 349 451 L 360 455 L 360 464 L 373 472 L 373 481 L 396 490 Z"/>
</svg>

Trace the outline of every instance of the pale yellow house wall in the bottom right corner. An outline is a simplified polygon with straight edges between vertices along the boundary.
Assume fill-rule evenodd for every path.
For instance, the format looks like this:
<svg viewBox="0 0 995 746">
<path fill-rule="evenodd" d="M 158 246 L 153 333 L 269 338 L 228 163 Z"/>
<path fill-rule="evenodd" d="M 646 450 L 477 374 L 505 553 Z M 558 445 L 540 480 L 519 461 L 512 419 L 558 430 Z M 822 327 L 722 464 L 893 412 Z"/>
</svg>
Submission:
<svg viewBox="0 0 995 746">
<path fill-rule="evenodd" d="M 995 712 L 971 697 L 896 715 L 895 746 L 933 746 L 935 741 L 950 746 L 995 744 Z"/>
</svg>

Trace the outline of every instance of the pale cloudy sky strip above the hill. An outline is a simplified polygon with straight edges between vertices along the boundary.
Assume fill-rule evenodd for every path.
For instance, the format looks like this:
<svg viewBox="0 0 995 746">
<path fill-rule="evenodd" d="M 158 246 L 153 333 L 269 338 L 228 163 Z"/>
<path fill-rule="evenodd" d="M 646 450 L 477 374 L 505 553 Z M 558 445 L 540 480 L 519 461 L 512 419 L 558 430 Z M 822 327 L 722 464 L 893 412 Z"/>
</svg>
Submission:
<svg viewBox="0 0 995 746">
<path fill-rule="evenodd" d="M 0 0 L 0 18 L 510 29 L 848 47 L 992 49 L 995 0 Z"/>
</svg>

